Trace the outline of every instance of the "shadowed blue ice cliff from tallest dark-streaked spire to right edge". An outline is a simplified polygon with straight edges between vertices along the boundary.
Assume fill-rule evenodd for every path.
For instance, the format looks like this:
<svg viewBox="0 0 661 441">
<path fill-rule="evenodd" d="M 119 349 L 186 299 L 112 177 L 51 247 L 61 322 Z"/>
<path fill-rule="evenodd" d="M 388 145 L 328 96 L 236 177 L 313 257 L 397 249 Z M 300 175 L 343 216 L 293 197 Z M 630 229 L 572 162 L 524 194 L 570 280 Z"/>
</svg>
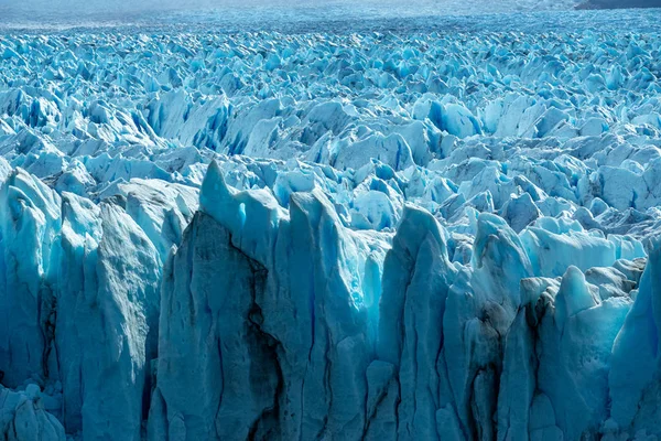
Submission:
<svg viewBox="0 0 661 441">
<path fill-rule="evenodd" d="M 643 398 L 657 338 L 636 343 L 649 355 L 621 343 L 649 332 L 628 322 L 652 314 L 655 263 L 534 277 L 517 234 L 487 214 L 473 265 L 453 263 L 447 230 L 405 206 L 378 248 L 372 312 L 373 263 L 322 194 L 293 194 L 282 213 L 214 164 L 201 198 L 167 263 L 151 439 L 658 434 Z M 622 370 L 641 363 L 635 387 Z"/>
</svg>

